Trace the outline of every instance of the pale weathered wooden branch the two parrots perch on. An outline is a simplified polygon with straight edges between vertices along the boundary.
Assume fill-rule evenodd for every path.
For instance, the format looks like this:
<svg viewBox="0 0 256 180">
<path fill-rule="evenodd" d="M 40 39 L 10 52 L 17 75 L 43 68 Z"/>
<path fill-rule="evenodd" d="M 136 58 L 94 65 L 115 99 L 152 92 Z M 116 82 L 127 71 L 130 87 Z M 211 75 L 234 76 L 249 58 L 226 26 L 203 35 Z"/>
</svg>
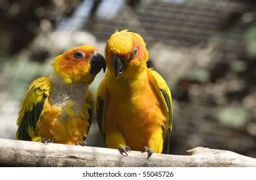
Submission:
<svg viewBox="0 0 256 180">
<path fill-rule="evenodd" d="M 15 167 L 256 167 L 256 159 L 228 150 L 197 147 L 190 156 L 0 139 L 0 165 Z"/>
</svg>

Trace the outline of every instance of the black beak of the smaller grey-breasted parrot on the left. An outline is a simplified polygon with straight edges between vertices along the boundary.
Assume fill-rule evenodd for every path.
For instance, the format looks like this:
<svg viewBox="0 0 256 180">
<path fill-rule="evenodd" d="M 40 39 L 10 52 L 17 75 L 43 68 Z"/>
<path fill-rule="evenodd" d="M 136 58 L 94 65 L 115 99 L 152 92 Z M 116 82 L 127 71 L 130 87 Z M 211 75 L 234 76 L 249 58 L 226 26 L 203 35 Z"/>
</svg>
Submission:
<svg viewBox="0 0 256 180">
<path fill-rule="evenodd" d="M 92 67 L 90 71 L 91 76 L 96 76 L 101 71 L 101 68 L 103 68 L 104 72 L 106 71 L 106 61 L 100 53 L 93 53 L 90 65 Z"/>
</svg>

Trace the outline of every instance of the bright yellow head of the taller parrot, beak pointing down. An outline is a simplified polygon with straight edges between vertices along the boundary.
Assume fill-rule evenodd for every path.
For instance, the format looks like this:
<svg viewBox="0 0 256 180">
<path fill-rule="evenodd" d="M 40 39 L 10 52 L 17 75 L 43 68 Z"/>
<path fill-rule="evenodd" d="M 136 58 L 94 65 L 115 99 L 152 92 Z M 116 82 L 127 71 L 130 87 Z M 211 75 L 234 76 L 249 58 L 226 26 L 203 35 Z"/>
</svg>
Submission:
<svg viewBox="0 0 256 180">
<path fill-rule="evenodd" d="M 128 30 L 111 35 L 105 48 L 106 66 L 118 78 L 136 76 L 146 69 L 148 51 L 143 38 Z"/>
</svg>

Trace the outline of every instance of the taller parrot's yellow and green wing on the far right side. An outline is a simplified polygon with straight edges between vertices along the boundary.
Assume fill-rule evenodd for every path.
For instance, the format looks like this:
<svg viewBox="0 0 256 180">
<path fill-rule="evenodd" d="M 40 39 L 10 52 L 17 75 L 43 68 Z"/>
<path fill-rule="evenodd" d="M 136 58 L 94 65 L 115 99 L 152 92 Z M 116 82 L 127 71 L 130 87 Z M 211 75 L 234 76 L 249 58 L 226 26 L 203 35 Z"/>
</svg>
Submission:
<svg viewBox="0 0 256 180">
<path fill-rule="evenodd" d="M 157 71 L 153 71 L 153 69 L 148 70 L 148 75 L 150 78 L 150 82 L 152 83 L 153 87 L 157 91 L 157 94 L 160 97 L 160 104 L 166 112 L 167 121 L 164 122 L 164 148 L 163 152 L 169 154 L 169 146 L 170 146 L 170 136 L 172 131 L 172 122 L 173 122 L 173 109 L 172 109 L 172 95 L 171 91 L 166 84 L 164 78 L 162 78 Z"/>
</svg>

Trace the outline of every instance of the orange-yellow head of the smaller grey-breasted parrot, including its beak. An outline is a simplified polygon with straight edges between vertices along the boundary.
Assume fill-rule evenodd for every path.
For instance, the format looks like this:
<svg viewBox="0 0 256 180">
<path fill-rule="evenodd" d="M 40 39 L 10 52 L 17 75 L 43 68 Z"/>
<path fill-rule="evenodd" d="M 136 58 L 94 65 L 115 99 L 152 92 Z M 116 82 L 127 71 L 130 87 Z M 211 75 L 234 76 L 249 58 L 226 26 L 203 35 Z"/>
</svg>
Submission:
<svg viewBox="0 0 256 180">
<path fill-rule="evenodd" d="M 106 69 L 104 57 L 97 53 L 94 46 L 84 45 L 72 48 L 55 57 L 54 73 L 61 76 L 64 82 L 87 82 L 91 84 L 101 68 Z"/>
</svg>

